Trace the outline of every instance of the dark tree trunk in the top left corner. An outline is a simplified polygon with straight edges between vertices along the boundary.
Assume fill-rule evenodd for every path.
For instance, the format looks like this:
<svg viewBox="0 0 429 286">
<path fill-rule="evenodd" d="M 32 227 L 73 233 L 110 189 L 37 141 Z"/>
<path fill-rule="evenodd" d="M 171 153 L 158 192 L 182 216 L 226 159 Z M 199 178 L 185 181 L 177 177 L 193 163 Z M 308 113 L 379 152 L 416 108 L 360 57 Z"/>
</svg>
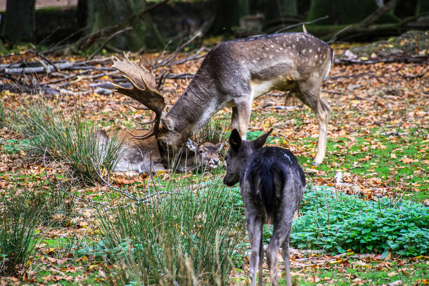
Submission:
<svg viewBox="0 0 429 286">
<path fill-rule="evenodd" d="M 36 30 L 36 0 L 9 0 L 3 36 L 11 41 L 31 41 Z"/>
</svg>

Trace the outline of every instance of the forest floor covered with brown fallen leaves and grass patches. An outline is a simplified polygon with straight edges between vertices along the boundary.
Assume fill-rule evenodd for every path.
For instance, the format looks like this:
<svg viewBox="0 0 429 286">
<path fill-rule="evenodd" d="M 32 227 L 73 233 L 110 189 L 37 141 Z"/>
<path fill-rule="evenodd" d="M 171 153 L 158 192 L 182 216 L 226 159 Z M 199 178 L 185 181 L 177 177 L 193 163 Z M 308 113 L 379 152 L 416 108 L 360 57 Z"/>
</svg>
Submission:
<svg viewBox="0 0 429 286">
<path fill-rule="evenodd" d="M 338 53 L 348 46 L 341 44 L 334 48 Z M 142 62 L 150 66 L 157 56 L 144 54 Z M 18 57 L 9 57 L 2 63 L 15 61 Z M 183 57 L 186 55 L 179 58 Z M 133 55 L 131 58 L 138 59 Z M 74 61 L 83 58 L 52 58 L 58 59 Z M 194 74 L 201 63 L 202 60 L 188 61 L 172 66 L 169 72 Z M 155 73 L 161 71 L 156 70 Z M 105 75 L 100 80 L 112 81 L 112 78 Z M 135 101 L 126 96 L 91 92 L 89 84 L 92 83 L 94 80 L 82 79 L 67 87 L 70 92 L 44 98 L 50 105 L 56 105 L 63 111 L 79 106 L 88 121 L 97 122 L 106 131 L 109 131 L 112 123 L 119 122 L 119 126 L 133 129 L 137 126 L 133 119 L 149 118 L 148 112 L 130 106 Z M 162 93 L 167 111 L 188 83 L 187 79 L 165 80 Z M 272 91 L 254 100 L 248 138 L 255 138 L 269 128 L 274 128 L 267 143 L 290 149 L 307 172 L 312 185 L 335 187 L 335 191 L 347 194 L 353 194 L 354 190 L 354 195 L 373 202 L 381 198 L 401 198 L 419 204 L 429 201 L 429 64 L 335 64 L 323 82 L 322 90 L 322 98 L 331 106 L 327 152 L 322 165 L 311 167 L 318 139 L 314 113 L 300 102 L 292 102 L 289 105 L 295 108 L 288 110 L 275 109 L 276 106 L 284 105 L 283 92 Z M 42 96 L 5 91 L 1 99 L 7 111 L 17 110 L 32 100 L 41 100 Z M 216 117 L 227 120 L 230 113 L 230 108 L 224 108 Z M 29 154 L 20 145 L 23 140 L 20 134 L 4 127 L 0 136 L 0 191 L 3 196 L 6 190 L 31 189 L 40 182 L 45 184 L 46 175 L 50 178 L 66 176 L 67 166 L 59 163 L 45 168 L 41 160 L 28 159 Z M 206 177 L 221 176 L 224 172 L 217 170 L 215 175 Z M 349 185 L 335 185 L 336 172 L 342 172 L 344 182 Z M 195 181 L 195 176 L 204 175 L 177 176 L 179 179 Z M 166 181 L 171 179 L 168 176 L 164 178 Z M 125 184 L 136 188 L 144 181 L 142 175 L 116 177 L 118 186 Z M 73 191 L 83 199 L 100 199 L 109 192 L 107 187 L 99 184 L 79 184 Z M 111 265 L 100 262 L 96 256 L 86 256 L 83 250 L 75 251 L 73 255 L 70 253 L 71 241 L 86 241 L 86 247 L 90 247 L 99 235 L 94 223 L 96 214 L 87 203 L 76 200 L 73 212 L 76 216 L 70 217 L 66 225 L 39 227 L 38 231 L 44 236 L 36 246 L 37 253 L 31 261 L 33 267 L 27 270 L 27 276 L 20 272 L 14 277 L 1 277 L 0 285 L 112 285 L 115 278 Z M 372 256 L 371 253 L 365 256 L 359 256 L 358 253 L 356 256 L 353 251 L 347 250 L 341 257 L 331 256 L 332 253 L 326 251 L 321 254 L 297 252 L 292 256 L 294 260 L 308 260 L 292 265 L 294 284 L 387 285 L 402 280 L 404 285 L 429 285 L 428 256 L 387 256 L 381 259 L 378 253 Z M 247 259 L 248 256 L 243 256 L 242 264 L 234 268 L 231 285 L 249 284 Z M 284 272 L 281 275 L 283 277 Z M 268 283 L 268 278 L 265 280 Z M 285 285 L 283 279 L 281 284 Z"/>
</svg>

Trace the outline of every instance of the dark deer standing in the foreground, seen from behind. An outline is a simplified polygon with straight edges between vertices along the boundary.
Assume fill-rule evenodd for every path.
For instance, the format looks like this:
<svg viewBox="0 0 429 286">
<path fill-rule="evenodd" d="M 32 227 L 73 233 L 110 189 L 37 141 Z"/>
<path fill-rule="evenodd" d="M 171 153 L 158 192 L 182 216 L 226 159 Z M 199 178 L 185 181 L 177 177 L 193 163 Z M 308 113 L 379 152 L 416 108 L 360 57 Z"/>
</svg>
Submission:
<svg viewBox="0 0 429 286">
<path fill-rule="evenodd" d="M 256 285 L 256 268 L 259 265 L 259 286 L 263 286 L 262 229 L 266 219 L 274 229 L 266 249 L 271 285 L 278 286 L 277 256 L 281 245 L 287 286 L 290 278 L 289 238 L 293 214 L 304 196 L 305 174 L 295 156 L 280 147 L 261 148 L 272 129 L 252 141 L 242 140 L 237 129 L 230 136 L 226 154 L 227 174 L 224 184 L 240 182 L 249 239 L 251 243 L 251 286 Z"/>
</svg>

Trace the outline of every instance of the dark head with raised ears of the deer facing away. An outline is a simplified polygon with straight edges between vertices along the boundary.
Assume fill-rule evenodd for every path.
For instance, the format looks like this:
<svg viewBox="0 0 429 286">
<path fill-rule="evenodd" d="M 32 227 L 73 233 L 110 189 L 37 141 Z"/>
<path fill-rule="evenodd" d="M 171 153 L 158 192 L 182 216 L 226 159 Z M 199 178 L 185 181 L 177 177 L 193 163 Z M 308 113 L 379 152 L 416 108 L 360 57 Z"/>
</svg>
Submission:
<svg viewBox="0 0 429 286">
<path fill-rule="evenodd" d="M 233 129 L 230 135 L 230 148 L 228 148 L 225 159 L 227 162 L 227 174 L 224 184 L 232 187 L 240 181 L 240 174 L 244 169 L 250 155 L 257 149 L 263 147 L 272 128 L 255 140 L 242 140 L 237 129 Z"/>
</svg>

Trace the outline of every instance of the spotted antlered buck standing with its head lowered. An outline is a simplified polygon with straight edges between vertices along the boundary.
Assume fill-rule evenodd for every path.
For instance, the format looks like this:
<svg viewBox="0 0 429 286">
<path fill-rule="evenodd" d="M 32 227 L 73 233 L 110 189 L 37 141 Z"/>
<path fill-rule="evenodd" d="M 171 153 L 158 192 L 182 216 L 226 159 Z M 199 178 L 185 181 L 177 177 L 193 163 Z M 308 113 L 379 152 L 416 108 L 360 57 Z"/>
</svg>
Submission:
<svg viewBox="0 0 429 286">
<path fill-rule="evenodd" d="M 329 117 L 329 105 L 320 98 L 320 85 L 332 58 L 332 48 L 308 33 L 277 33 L 223 42 L 208 52 L 187 89 L 162 118 L 165 102 L 153 72 L 127 57 L 113 60 L 112 67 L 133 84 L 131 89 L 115 85 L 117 92 L 156 114 L 154 120 L 140 123 L 154 123 L 150 131 L 133 138 L 155 135 L 166 168 L 172 166 L 187 138 L 224 106 L 233 108 L 231 129 L 238 129 L 246 139 L 252 100 L 271 90 L 294 92 L 315 112 L 319 142 L 313 164 L 319 165 L 325 157 Z"/>
</svg>

